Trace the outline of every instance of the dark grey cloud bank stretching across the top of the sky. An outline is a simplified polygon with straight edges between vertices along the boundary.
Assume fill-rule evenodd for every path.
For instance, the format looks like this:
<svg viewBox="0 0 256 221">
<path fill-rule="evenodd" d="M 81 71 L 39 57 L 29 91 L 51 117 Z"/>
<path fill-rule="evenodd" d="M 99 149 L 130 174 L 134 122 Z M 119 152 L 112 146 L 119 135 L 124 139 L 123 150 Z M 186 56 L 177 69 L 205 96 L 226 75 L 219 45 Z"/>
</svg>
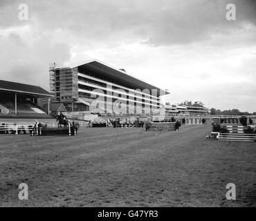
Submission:
<svg viewBox="0 0 256 221">
<path fill-rule="evenodd" d="M 226 20 L 226 4 L 230 2 L 237 6 L 237 21 Z M 28 23 L 32 26 L 42 30 L 60 28 L 101 42 L 144 39 L 153 46 L 190 44 L 210 39 L 212 34 L 232 35 L 234 30 L 244 30 L 244 23 L 253 26 L 256 23 L 253 1 L 26 0 L 24 3 L 28 3 Z M 2 8 L 6 12 L 4 23 L 9 26 L 21 23 L 17 19 L 18 5 L 16 1 Z"/>
</svg>

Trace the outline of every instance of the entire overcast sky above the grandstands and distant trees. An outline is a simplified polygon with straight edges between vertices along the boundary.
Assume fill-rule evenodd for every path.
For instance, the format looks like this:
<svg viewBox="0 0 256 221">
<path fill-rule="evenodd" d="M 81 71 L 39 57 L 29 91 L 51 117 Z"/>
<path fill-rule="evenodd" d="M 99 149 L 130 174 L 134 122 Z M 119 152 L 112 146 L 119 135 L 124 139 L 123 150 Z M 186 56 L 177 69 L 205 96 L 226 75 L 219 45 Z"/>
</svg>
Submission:
<svg viewBox="0 0 256 221">
<path fill-rule="evenodd" d="M 50 63 L 88 59 L 170 90 L 171 104 L 255 112 L 256 1 L 0 0 L 0 79 L 48 89 Z"/>
</svg>

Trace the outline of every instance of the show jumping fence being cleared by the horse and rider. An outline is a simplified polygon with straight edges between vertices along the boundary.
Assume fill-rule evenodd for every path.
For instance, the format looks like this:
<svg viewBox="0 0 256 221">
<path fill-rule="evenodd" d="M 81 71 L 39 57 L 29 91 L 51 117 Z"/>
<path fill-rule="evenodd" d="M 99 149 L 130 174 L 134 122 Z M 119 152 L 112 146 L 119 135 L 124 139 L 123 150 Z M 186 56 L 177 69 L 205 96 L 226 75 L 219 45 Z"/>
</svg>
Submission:
<svg viewBox="0 0 256 221">
<path fill-rule="evenodd" d="M 77 135 L 77 128 L 71 124 L 68 120 L 68 126 L 64 126 L 63 128 L 58 128 L 55 126 L 43 126 L 39 122 L 35 122 L 35 126 L 31 133 L 32 136 L 44 136 L 44 135 L 68 135 L 74 136 Z"/>
</svg>

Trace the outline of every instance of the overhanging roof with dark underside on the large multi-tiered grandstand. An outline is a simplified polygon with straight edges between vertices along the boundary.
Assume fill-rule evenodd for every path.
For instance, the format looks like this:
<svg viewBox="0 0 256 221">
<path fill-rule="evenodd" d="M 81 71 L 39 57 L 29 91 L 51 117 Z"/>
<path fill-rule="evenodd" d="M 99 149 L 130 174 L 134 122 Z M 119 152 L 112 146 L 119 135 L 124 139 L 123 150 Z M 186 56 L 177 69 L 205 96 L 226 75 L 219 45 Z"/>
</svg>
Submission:
<svg viewBox="0 0 256 221">
<path fill-rule="evenodd" d="M 84 68 L 88 68 L 89 70 L 94 70 L 103 76 L 109 76 L 113 79 L 116 79 L 117 81 L 122 81 L 122 83 L 127 84 L 129 88 L 140 88 L 140 89 L 147 88 L 150 90 L 158 89 L 160 90 L 161 95 L 170 94 L 170 92 L 167 90 L 158 88 L 157 86 L 149 84 L 142 79 L 138 79 L 138 77 L 134 77 L 128 74 L 123 69 L 113 68 L 112 66 L 109 66 L 109 64 L 105 64 L 104 62 L 99 61 L 97 59 L 82 61 L 77 64 L 70 64 L 61 68 L 75 68 L 75 67 L 82 67 L 82 68 L 84 67 Z"/>
</svg>

